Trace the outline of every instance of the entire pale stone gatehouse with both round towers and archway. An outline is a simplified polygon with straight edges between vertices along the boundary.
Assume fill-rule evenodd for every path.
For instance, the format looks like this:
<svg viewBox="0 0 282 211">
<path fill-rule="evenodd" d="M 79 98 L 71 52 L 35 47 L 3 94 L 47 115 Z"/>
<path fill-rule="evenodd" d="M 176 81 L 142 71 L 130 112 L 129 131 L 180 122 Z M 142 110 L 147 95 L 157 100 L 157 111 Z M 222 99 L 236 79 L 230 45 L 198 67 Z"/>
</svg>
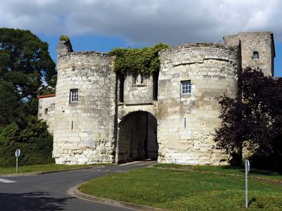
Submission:
<svg viewBox="0 0 282 211">
<path fill-rule="evenodd" d="M 71 43 L 60 41 L 56 96 L 39 97 L 39 118 L 54 131 L 56 163 L 150 158 L 226 165 L 228 155 L 213 141 L 221 125 L 219 97 L 235 98 L 242 67 L 272 75 L 275 51 L 270 32 L 224 40 L 225 45 L 184 44 L 161 51 L 161 69 L 154 75 L 115 74 L 114 56 L 72 52 Z"/>
</svg>

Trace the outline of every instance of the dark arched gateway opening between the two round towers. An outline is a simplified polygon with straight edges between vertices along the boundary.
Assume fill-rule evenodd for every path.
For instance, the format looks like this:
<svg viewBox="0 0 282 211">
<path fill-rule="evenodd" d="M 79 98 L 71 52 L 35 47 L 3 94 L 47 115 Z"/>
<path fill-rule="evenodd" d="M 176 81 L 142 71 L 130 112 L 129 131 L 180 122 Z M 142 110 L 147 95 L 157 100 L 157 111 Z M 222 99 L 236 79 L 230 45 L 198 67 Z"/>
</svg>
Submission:
<svg viewBox="0 0 282 211">
<path fill-rule="evenodd" d="M 136 111 L 118 124 L 118 163 L 157 160 L 157 119 L 151 113 Z"/>
</svg>

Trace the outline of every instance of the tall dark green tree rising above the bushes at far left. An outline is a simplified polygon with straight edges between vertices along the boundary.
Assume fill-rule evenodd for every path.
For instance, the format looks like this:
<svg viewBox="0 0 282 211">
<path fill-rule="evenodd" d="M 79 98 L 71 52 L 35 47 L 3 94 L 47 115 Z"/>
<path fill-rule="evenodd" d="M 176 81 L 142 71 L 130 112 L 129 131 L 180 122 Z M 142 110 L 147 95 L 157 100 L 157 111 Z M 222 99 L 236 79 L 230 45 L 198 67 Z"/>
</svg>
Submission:
<svg viewBox="0 0 282 211">
<path fill-rule="evenodd" d="M 35 34 L 0 28 L 0 124 L 20 121 L 28 109 L 37 113 L 39 89 L 56 85 L 55 67 L 48 44 Z"/>
</svg>

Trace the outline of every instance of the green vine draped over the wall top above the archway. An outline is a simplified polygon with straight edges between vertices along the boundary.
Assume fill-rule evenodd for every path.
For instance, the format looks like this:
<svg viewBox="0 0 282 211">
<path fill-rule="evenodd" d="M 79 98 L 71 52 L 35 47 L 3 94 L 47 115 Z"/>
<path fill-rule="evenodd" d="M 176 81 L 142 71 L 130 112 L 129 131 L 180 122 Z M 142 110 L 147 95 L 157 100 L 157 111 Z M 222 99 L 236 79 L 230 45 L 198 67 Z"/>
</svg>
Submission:
<svg viewBox="0 0 282 211">
<path fill-rule="evenodd" d="M 139 72 L 152 75 L 153 72 L 159 71 L 159 51 L 168 49 L 168 47 L 167 44 L 159 43 L 142 49 L 116 48 L 109 53 L 116 56 L 114 63 L 115 72 Z"/>
</svg>

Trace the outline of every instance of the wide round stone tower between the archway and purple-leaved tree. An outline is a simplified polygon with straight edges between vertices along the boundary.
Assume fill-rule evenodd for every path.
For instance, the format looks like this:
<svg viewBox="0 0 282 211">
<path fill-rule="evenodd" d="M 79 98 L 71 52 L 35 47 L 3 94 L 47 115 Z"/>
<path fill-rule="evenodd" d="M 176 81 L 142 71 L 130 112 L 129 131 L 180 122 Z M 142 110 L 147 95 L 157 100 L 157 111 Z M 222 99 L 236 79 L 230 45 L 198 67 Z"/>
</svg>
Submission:
<svg viewBox="0 0 282 211">
<path fill-rule="evenodd" d="M 235 97 L 238 49 L 219 44 L 186 44 L 160 52 L 158 102 L 159 162 L 226 164 L 225 151 L 214 148 L 220 127 L 219 97 Z M 190 80 L 191 94 L 181 94 Z"/>
</svg>

